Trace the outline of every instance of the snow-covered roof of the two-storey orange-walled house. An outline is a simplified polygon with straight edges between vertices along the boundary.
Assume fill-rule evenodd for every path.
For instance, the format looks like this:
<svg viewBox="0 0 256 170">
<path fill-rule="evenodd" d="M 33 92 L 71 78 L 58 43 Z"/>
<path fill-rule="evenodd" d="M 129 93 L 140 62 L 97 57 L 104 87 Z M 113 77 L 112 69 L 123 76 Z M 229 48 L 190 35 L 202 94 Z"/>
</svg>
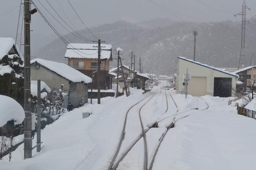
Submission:
<svg viewBox="0 0 256 170">
<path fill-rule="evenodd" d="M 96 44 L 69 44 L 65 58 L 98 58 L 97 46 Z M 101 58 L 110 59 L 112 46 L 108 44 L 101 44 L 101 46 Z"/>
</svg>

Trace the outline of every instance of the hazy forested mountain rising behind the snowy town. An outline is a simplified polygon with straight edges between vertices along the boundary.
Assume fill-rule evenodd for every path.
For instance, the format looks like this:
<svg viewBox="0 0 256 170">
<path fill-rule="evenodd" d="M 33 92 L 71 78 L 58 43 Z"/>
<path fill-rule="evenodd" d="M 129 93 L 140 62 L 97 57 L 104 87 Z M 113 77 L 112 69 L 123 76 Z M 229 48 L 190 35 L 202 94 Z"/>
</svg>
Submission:
<svg viewBox="0 0 256 170">
<path fill-rule="evenodd" d="M 252 53 L 256 46 L 256 17 L 246 22 L 246 62 L 250 65 Z M 122 63 L 130 64 L 129 52 L 135 52 L 135 67 L 139 68 L 137 61 L 141 57 L 143 72 L 153 68 L 155 73 L 162 75 L 172 74 L 176 67 L 177 57 L 194 58 L 193 30 L 198 31 L 196 36 L 196 61 L 215 67 L 238 67 L 241 50 L 241 21 L 221 22 L 174 22 L 166 18 L 145 21 L 141 23 L 128 23 L 118 21 L 80 30 L 82 37 L 91 40 L 105 40 L 113 49 L 123 49 Z M 75 34 L 75 33 L 74 33 Z M 77 34 L 76 34 L 77 35 Z M 92 43 L 79 39 L 71 33 L 65 35 L 69 43 Z M 77 35 L 78 36 L 78 35 Z M 80 36 L 78 36 L 80 37 Z M 40 49 L 35 55 L 44 58 L 64 59 L 67 45 L 56 39 L 49 45 Z M 113 52 L 113 58 L 117 58 Z M 111 62 L 116 63 L 114 59 Z"/>
</svg>

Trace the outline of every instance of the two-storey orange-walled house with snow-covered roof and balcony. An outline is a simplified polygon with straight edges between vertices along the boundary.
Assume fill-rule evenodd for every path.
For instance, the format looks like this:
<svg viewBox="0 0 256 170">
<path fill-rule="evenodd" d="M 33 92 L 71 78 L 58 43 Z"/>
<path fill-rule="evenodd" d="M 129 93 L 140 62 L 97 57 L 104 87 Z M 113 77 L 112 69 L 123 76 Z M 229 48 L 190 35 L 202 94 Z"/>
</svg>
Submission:
<svg viewBox="0 0 256 170">
<path fill-rule="evenodd" d="M 98 70 L 98 44 L 69 44 L 65 54 L 68 58 L 68 65 L 84 75 L 92 78 L 92 72 Z M 111 89 L 111 76 L 109 72 L 109 61 L 112 61 L 112 46 L 101 44 L 101 65 L 100 65 L 100 88 Z M 89 88 L 98 89 L 98 73 L 94 73 L 93 82 Z"/>
</svg>

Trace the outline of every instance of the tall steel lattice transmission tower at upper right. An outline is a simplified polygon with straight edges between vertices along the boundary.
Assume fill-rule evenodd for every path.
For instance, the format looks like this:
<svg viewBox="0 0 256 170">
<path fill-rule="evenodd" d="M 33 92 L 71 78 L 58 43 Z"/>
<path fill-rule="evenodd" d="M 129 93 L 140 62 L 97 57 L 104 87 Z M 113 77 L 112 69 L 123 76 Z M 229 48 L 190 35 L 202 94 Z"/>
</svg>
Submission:
<svg viewBox="0 0 256 170">
<path fill-rule="evenodd" d="M 234 15 L 234 16 L 242 15 L 242 39 L 241 39 L 241 52 L 240 52 L 238 70 L 239 70 L 239 68 L 242 68 L 242 66 L 246 67 L 246 57 L 245 57 L 245 23 L 246 23 L 246 21 L 248 21 L 246 19 L 246 17 L 245 17 L 246 8 L 251 10 L 249 7 L 246 6 L 245 0 L 244 0 L 242 12 Z"/>
</svg>

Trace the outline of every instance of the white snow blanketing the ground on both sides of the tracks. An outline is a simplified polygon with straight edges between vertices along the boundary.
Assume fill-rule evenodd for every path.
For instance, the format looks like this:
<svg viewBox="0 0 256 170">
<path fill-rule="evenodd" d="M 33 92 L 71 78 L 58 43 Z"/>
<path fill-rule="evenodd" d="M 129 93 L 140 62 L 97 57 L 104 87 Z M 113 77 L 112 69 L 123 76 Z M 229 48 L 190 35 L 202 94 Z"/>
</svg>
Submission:
<svg viewBox="0 0 256 170">
<path fill-rule="evenodd" d="M 108 169 L 111 158 L 119 142 L 125 113 L 145 96 L 159 90 L 157 98 L 150 100 L 143 109 L 143 123 L 150 124 L 154 117 L 167 120 L 172 118 L 176 109 L 169 101 L 173 112 L 166 112 L 165 94 L 160 90 L 162 84 L 150 92 L 142 94 L 141 89 L 131 89 L 131 95 L 118 98 L 101 99 L 101 105 L 86 104 L 64 113 L 53 124 L 47 125 L 41 132 L 43 142 L 41 152 L 32 151 L 32 158 L 23 160 L 23 145 L 0 161 L 0 169 Z M 256 122 L 237 114 L 236 107 L 228 106 L 228 98 L 202 96 L 198 100 L 190 95 L 175 94 L 169 90 L 178 106 L 178 112 L 193 112 L 180 119 L 170 129 L 159 148 L 153 169 L 256 169 Z M 157 100 L 159 99 L 159 100 Z M 199 101 L 200 100 L 200 101 Z M 195 112 L 195 108 L 209 108 Z M 159 110 L 159 112 L 158 112 Z M 88 118 L 82 118 L 82 112 L 92 112 Z M 147 114 L 148 113 L 148 114 Z M 155 114 L 154 114 L 155 113 Z M 161 114 L 160 114 L 161 113 Z M 148 117 L 147 117 L 148 116 Z M 167 122 L 166 122 L 167 124 Z M 159 133 L 154 128 L 148 131 L 148 152 L 152 155 Z M 138 145 L 141 143 L 137 143 Z M 136 145 L 137 145 L 136 144 Z M 36 136 L 33 146 L 36 145 Z M 136 146 L 137 147 L 137 146 Z M 136 149 L 134 149 L 136 150 Z M 140 149 L 137 149 L 138 152 Z M 127 159 L 127 158 L 126 158 Z M 133 162 L 130 158 L 128 162 Z M 136 162 L 139 160 L 136 160 Z M 140 169 L 136 163 L 118 169 Z"/>
</svg>

